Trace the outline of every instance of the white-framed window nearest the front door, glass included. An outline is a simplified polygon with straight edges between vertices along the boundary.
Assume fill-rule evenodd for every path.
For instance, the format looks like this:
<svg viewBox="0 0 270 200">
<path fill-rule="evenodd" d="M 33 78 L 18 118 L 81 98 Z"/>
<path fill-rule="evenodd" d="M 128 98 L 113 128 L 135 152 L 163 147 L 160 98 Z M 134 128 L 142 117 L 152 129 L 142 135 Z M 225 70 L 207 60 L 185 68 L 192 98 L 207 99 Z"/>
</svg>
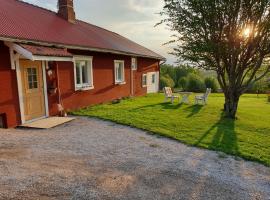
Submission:
<svg viewBox="0 0 270 200">
<path fill-rule="evenodd" d="M 75 57 L 75 88 L 76 90 L 94 88 L 92 58 Z"/>
</svg>

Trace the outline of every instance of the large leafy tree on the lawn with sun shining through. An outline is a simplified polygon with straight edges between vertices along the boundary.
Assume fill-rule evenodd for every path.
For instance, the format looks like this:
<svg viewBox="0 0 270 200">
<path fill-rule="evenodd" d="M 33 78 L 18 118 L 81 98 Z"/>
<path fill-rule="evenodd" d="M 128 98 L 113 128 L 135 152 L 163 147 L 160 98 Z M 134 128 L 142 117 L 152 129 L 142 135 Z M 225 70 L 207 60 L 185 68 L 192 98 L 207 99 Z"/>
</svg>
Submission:
<svg viewBox="0 0 270 200">
<path fill-rule="evenodd" d="M 176 32 L 174 54 L 217 73 L 224 110 L 235 118 L 240 96 L 270 71 L 270 0 L 164 1 L 161 23 Z"/>
</svg>

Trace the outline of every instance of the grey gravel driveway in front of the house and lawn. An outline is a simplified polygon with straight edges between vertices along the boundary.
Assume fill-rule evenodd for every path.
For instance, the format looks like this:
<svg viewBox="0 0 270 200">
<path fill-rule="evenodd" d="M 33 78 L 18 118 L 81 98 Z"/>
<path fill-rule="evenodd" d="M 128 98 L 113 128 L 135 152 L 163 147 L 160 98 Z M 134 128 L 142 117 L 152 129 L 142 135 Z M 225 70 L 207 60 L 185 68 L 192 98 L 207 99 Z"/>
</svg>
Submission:
<svg viewBox="0 0 270 200">
<path fill-rule="evenodd" d="M 270 199 L 270 168 L 78 118 L 0 130 L 0 199 Z"/>
</svg>

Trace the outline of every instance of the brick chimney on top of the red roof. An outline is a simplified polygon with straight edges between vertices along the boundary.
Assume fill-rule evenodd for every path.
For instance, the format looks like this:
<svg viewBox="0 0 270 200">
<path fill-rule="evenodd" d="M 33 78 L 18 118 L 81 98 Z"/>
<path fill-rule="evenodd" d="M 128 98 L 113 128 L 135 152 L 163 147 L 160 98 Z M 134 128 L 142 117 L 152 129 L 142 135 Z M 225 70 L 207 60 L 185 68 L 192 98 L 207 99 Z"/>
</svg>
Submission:
<svg viewBox="0 0 270 200">
<path fill-rule="evenodd" d="M 76 17 L 73 7 L 73 0 L 58 0 L 58 15 L 74 24 Z"/>
</svg>

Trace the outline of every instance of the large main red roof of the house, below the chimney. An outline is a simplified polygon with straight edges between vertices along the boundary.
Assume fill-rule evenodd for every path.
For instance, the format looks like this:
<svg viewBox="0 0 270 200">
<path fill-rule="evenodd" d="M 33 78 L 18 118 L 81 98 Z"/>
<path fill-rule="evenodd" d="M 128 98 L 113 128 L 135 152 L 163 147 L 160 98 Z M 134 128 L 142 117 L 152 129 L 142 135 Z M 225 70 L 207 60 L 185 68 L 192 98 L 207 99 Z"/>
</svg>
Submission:
<svg viewBox="0 0 270 200">
<path fill-rule="evenodd" d="M 117 33 L 80 20 L 69 23 L 57 13 L 29 3 L 0 0 L 0 5 L 0 37 L 4 39 L 164 59 Z"/>
</svg>

